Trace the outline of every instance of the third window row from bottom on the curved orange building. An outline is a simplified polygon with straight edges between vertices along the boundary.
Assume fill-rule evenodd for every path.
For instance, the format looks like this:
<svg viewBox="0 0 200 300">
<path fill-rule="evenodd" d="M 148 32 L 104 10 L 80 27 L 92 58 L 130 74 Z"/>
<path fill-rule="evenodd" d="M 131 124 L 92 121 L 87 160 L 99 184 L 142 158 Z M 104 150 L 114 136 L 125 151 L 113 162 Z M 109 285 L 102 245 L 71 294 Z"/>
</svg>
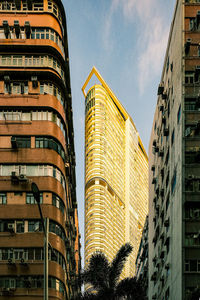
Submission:
<svg viewBox="0 0 200 300">
<path fill-rule="evenodd" d="M 40 220 L 0 220 L 0 232 L 42 232 L 42 223 Z M 55 233 L 62 240 L 66 240 L 63 227 L 55 221 L 49 221 L 49 232 Z"/>
</svg>

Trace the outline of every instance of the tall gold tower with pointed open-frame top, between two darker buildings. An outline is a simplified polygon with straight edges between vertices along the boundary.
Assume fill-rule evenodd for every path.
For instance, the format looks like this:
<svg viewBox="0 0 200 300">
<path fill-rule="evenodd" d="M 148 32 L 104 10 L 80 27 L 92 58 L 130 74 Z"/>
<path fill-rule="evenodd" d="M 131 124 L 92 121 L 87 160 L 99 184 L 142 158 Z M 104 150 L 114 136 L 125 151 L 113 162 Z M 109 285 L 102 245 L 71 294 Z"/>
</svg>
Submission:
<svg viewBox="0 0 200 300">
<path fill-rule="evenodd" d="M 99 84 L 87 94 L 95 75 Z M 93 68 L 85 96 L 85 263 L 101 250 L 111 260 L 125 242 L 133 245 L 123 276 L 135 260 L 147 214 L 148 158 L 135 125 Z"/>
</svg>

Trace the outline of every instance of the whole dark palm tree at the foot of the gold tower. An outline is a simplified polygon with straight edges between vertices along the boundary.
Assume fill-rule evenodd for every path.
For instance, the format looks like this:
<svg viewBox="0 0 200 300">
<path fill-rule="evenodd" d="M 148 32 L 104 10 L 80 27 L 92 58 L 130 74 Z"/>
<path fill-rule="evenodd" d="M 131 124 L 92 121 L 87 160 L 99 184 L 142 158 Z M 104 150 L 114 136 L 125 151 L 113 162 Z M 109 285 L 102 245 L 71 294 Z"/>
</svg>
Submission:
<svg viewBox="0 0 200 300">
<path fill-rule="evenodd" d="M 146 300 L 142 286 L 135 278 L 125 278 L 119 282 L 121 272 L 127 257 L 132 251 L 129 243 L 124 244 L 111 263 L 102 252 L 94 253 L 89 261 L 89 265 L 83 271 L 82 283 L 92 285 L 93 293 L 84 293 L 78 299 L 83 300 L 136 300 L 134 297 L 139 292 L 140 300 Z"/>
</svg>

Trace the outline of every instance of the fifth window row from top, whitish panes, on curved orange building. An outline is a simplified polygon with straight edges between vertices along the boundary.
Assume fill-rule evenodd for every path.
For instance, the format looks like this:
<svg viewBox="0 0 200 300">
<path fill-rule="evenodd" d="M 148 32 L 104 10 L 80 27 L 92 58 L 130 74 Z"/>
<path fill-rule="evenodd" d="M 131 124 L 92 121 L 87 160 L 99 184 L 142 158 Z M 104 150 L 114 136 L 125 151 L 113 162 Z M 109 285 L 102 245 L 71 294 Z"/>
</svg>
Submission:
<svg viewBox="0 0 200 300">
<path fill-rule="evenodd" d="M 50 121 L 55 123 L 62 131 L 64 137 L 65 125 L 57 113 L 52 111 L 0 111 L 0 121 Z"/>
</svg>

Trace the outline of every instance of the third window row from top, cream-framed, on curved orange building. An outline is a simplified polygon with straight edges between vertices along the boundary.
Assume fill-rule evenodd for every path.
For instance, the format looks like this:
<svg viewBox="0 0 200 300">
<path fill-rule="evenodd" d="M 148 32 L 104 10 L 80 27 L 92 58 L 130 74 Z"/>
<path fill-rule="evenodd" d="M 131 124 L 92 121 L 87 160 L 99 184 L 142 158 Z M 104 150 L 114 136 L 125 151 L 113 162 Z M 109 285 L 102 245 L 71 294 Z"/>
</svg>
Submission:
<svg viewBox="0 0 200 300">
<path fill-rule="evenodd" d="M 0 55 L 0 65 L 1 67 L 51 67 L 65 80 L 64 69 L 58 60 L 50 55 Z"/>
</svg>

